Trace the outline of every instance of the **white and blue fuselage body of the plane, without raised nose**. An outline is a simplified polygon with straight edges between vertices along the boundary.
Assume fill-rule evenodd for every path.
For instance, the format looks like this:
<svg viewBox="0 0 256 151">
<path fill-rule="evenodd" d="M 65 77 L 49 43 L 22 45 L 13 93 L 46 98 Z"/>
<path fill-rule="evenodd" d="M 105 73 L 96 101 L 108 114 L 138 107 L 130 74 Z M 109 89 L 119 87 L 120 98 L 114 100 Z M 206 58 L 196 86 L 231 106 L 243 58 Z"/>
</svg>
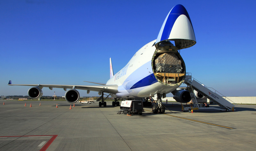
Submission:
<svg viewBox="0 0 256 151">
<path fill-rule="evenodd" d="M 175 84 L 168 84 L 167 82 L 163 83 L 156 78 L 156 71 L 154 71 L 154 59 L 156 58 L 153 56 L 159 55 L 156 54 L 156 51 L 159 50 L 156 49 L 154 45 L 155 42 L 156 40 L 153 40 L 140 48 L 140 50 L 133 55 L 132 59 L 126 64 L 126 66 L 108 80 L 107 85 L 118 85 L 118 92 L 116 93 L 116 96 L 112 95 L 112 97 L 149 97 L 149 95 L 154 96 L 157 93 L 167 94 L 176 90 L 176 88 L 178 88 L 184 81 L 181 80 Z M 162 53 L 173 54 L 173 52 L 166 50 L 164 50 Z M 176 51 L 175 53 L 178 52 Z M 182 58 L 180 60 L 182 60 Z M 183 66 L 185 67 L 184 61 Z M 182 74 L 185 73 L 184 69 Z"/>
</svg>

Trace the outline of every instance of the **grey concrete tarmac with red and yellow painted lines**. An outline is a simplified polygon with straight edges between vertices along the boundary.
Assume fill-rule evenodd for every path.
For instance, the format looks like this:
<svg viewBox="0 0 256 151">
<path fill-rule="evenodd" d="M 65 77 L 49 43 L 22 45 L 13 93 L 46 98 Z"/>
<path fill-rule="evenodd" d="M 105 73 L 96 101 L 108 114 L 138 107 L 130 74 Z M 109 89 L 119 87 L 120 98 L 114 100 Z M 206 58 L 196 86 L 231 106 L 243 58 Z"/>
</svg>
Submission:
<svg viewBox="0 0 256 151">
<path fill-rule="evenodd" d="M 64 101 L 0 100 L 0 150 L 255 150 L 256 105 L 194 113 L 164 105 L 171 111 L 144 107 L 143 115 L 127 116 L 112 102 L 70 109 Z"/>
</svg>

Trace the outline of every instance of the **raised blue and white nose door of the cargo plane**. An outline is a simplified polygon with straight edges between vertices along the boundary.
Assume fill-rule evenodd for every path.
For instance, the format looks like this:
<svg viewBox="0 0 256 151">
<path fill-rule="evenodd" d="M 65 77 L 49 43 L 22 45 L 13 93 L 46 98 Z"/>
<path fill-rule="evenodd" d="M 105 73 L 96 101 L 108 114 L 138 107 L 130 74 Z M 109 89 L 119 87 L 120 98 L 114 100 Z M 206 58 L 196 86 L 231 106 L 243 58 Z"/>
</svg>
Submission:
<svg viewBox="0 0 256 151">
<path fill-rule="evenodd" d="M 178 4 L 168 13 L 155 46 L 158 47 L 159 42 L 163 40 L 175 41 L 175 47 L 178 49 L 188 48 L 196 44 L 192 22 L 184 6 Z"/>
</svg>

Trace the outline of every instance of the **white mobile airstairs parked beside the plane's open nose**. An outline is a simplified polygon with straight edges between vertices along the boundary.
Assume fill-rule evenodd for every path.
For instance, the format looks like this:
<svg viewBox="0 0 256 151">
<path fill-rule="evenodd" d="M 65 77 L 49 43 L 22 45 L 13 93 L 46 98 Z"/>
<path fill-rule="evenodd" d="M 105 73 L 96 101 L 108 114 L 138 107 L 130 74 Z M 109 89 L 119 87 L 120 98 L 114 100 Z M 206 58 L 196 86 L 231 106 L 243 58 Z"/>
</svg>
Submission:
<svg viewBox="0 0 256 151">
<path fill-rule="evenodd" d="M 214 90 L 213 88 L 206 87 L 196 79 L 192 79 L 191 73 L 186 74 L 186 78 L 184 83 L 188 85 L 188 91 L 190 93 L 193 105 L 192 107 L 183 107 L 183 111 L 193 111 L 193 110 L 204 110 L 204 109 L 214 109 L 214 110 L 220 110 L 220 111 L 235 111 L 234 105 L 235 103 L 228 99 L 227 97 L 221 97 L 223 96 L 220 94 L 220 92 Z M 211 90 L 210 90 L 211 89 Z M 217 104 L 220 106 L 220 108 L 217 107 L 209 107 L 208 105 L 204 104 L 198 104 L 196 95 L 194 93 L 194 90 L 196 90 L 198 93 L 204 95 L 204 97 L 207 97 L 209 100 L 211 100 L 214 104 Z M 221 96 L 220 96 L 221 95 Z M 233 102 L 234 104 L 230 103 Z"/>
</svg>

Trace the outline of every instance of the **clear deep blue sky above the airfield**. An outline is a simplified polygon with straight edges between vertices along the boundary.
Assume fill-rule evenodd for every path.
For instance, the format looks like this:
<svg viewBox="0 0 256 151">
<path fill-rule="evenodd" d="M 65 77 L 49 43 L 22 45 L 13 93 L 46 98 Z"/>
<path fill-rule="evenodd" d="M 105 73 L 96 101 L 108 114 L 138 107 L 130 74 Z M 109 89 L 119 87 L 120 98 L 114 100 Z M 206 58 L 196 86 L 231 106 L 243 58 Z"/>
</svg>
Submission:
<svg viewBox="0 0 256 151">
<path fill-rule="evenodd" d="M 27 95 L 14 84 L 78 84 L 109 79 L 157 38 L 182 4 L 196 45 L 181 50 L 187 72 L 226 96 L 256 96 L 255 1 L 0 1 L 0 95 Z M 63 89 L 43 88 L 44 95 Z M 81 96 L 88 96 L 86 91 Z M 97 96 L 90 93 L 89 96 Z"/>
</svg>

